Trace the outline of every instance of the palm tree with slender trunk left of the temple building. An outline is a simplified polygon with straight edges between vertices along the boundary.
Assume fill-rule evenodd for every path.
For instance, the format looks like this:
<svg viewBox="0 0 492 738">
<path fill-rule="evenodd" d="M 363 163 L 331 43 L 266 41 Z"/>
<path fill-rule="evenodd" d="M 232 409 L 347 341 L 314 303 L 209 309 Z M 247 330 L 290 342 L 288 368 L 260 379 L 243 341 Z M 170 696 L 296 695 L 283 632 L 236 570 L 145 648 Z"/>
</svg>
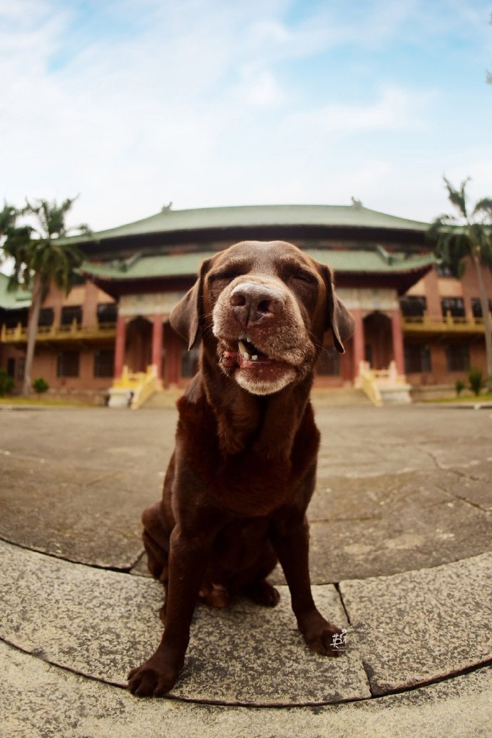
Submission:
<svg viewBox="0 0 492 738">
<path fill-rule="evenodd" d="M 0 227 L 4 229 L 4 255 L 13 259 L 10 288 L 23 287 L 32 291 L 27 323 L 27 353 L 22 390 L 24 396 L 31 391 L 32 359 L 38 335 L 39 311 L 49 285 L 55 283 L 68 294 L 75 269 L 83 260 L 77 246 L 66 241 L 71 230 L 89 233 L 89 227 L 85 224 L 75 229 L 69 229 L 65 225 L 66 213 L 74 201 L 75 198 L 66 199 L 58 204 L 56 201 L 26 200 L 26 206 L 22 210 L 15 210 L 6 204 L 0 213 Z"/>
</svg>

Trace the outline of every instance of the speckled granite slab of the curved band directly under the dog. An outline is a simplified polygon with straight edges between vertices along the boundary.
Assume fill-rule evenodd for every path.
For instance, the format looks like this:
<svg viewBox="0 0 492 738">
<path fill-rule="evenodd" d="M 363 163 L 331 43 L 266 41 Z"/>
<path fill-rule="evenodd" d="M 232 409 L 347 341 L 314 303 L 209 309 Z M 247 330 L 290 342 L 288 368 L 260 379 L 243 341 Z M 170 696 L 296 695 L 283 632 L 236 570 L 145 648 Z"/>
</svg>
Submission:
<svg viewBox="0 0 492 738">
<path fill-rule="evenodd" d="M 155 650 L 162 588 L 153 580 L 72 564 L 0 545 L 0 635 L 10 644 L 109 683 Z M 356 652 L 323 658 L 305 647 L 286 587 L 274 609 L 240 600 L 198 607 L 174 697 L 209 703 L 291 706 L 370 697 Z M 322 611 L 346 624 L 335 587 L 315 587 Z"/>
</svg>

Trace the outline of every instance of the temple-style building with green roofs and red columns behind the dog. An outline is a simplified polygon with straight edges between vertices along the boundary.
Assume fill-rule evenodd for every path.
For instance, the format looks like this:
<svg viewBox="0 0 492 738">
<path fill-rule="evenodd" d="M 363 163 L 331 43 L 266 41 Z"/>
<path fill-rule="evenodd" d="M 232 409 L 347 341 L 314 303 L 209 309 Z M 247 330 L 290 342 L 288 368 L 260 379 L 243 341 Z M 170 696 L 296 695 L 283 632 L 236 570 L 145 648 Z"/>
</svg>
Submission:
<svg viewBox="0 0 492 738">
<path fill-rule="evenodd" d="M 173 210 L 70 240 L 85 261 L 67 297 L 49 292 L 39 319 L 32 376 L 55 393 L 98 402 L 147 377 L 147 395 L 183 387 L 195 373 L 170 327 L 173 306 L 199 265 L 237 241 L 291 241 L 335 272 L 336 292 L 356 319 L 342 356 L 326 334 L 317 387 L 353 387 L 361 373 L 392 368 L 415 393 L 450 386 L 471 367 L 485 373 L 477 276 L 462 280 L 435 263 L 429 224 L 348 206 L 272 205 Z M 492 275 L 484 269 L 491 298 Z M 0 368 L 20 389 L 29 294 L 9 293 L 0 275 Z M 126 381 L 125 381 L 126 379 Z M 135 387 L 138 382 L 135 379 Z"/>
</svg>

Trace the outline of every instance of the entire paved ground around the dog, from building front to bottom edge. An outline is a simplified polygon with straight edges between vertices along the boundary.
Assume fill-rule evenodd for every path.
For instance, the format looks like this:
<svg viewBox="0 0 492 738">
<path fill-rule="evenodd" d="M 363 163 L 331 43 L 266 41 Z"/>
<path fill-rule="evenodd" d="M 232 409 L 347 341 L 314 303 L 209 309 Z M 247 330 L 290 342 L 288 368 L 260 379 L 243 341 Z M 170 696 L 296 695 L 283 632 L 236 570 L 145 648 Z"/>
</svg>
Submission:
<svg viewBox="0 0 492 738">
<path fill-rule="evenodd" d="M 125 674 L 159 641 L 162 599 L 139 515 L 175 421 L 1 411 L 5 736 L 491 734 L 490 410 L 319 408 L 313 591 L 347 652 L 305 648 L 278 571 L 274 610 L 198 607 L 172 696 L 136 700 Z"/>
</svg>

